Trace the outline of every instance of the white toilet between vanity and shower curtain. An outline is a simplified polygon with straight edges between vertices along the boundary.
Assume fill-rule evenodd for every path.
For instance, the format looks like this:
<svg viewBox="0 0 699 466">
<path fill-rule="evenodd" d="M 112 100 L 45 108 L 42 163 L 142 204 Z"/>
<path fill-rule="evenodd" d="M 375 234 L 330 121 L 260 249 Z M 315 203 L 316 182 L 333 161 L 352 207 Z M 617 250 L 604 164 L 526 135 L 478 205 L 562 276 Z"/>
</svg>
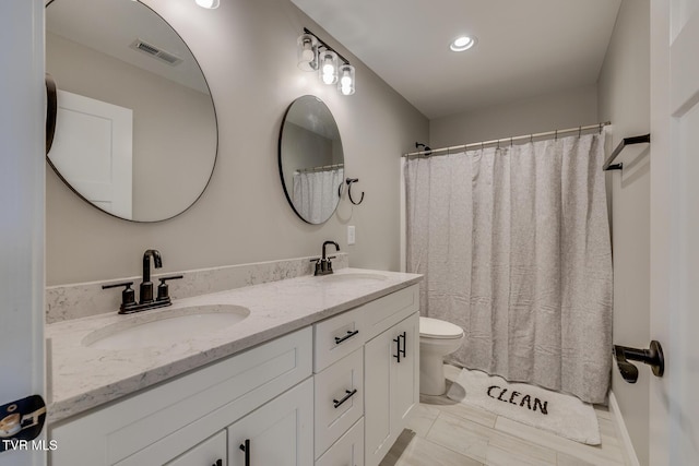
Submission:
<svg viewBox="0 0 699 466">
<path fill-rule="evenodd" d="M 445 356 L 463 343 L 460 326 L 439 319 L 419 318 L 419 393 L 442 395 L 447 391 Z"/>
</svg>

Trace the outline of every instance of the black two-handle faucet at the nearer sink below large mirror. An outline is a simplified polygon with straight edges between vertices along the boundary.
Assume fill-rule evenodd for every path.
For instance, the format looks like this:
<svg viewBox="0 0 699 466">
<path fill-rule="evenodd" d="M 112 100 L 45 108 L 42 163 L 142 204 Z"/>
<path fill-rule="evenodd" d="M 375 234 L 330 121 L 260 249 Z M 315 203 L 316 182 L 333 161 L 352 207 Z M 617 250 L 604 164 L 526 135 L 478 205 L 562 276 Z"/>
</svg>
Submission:
<svg viewBox="0 0 699 466">
<path fill-rule="evenodd" d="M 146 309 L 164 308 L 173 303 L 169 294 L 167 280 L 182 278 L 182 275 L 171 275 L 168 277 L 159 277 L 161 285 L 157 287 L 157 298 L 153 299 L 153 282 L 151 282 L 151 256 L 153 256 L 153 265 L 155 268 L 163 266 L 163 259 L 159 251 L 149 249 L 143 253 L 143 282 L 141 282 L 141 300 L 135 302 L 135 292 L 131 289 L 133 282 L 117 283 L 114 285 L 104 285 L 102 288 L 115 288 L 119 286 L 126 287 L 121 292 L 120 314 L 130 314 L 133 312 L 145 311 Z"/>
</svg>

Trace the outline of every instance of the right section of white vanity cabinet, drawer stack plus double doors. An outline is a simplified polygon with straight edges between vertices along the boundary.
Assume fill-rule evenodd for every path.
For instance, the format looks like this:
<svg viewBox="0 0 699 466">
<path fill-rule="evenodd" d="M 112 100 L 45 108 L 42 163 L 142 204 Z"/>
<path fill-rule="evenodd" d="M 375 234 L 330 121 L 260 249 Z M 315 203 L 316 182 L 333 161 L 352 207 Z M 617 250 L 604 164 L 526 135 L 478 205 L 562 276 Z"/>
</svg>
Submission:
<svg viewBox="0 0 699 466">
<path fill-rule="evenodd" d="M 316 466 L 376 466 L 404 429 L 419 403 L 418 306 L 414 285 L 315 324 Z"/>
</svg>

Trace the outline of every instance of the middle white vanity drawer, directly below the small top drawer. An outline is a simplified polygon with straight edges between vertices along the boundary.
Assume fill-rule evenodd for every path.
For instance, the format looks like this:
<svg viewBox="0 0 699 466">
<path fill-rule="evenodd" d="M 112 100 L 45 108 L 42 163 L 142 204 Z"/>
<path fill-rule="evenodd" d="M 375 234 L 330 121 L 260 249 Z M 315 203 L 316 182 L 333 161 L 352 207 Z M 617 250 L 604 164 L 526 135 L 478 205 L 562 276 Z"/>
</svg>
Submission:
<svg viewBox="0 0 699 466">
<path fill-rule="evenodd" d="M 323 454 L 364 416 L 364 348 L 313 378 L 316 456 Z"/>
</svg>

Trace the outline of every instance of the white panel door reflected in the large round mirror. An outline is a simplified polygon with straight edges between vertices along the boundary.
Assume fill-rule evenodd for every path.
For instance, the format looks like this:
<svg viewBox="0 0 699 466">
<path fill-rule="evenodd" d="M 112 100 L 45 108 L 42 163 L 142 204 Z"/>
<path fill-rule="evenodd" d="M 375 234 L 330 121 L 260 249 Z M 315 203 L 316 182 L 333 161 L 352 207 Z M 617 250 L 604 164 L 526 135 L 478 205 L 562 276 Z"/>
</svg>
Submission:
<svg viewBox="0 0 699 466">
<path fill-rule="evenodd" d="M 131 218 L 133 110 L 60 89 L 57 96 L 51 164 L 92 204 Z"/>
</svg>

